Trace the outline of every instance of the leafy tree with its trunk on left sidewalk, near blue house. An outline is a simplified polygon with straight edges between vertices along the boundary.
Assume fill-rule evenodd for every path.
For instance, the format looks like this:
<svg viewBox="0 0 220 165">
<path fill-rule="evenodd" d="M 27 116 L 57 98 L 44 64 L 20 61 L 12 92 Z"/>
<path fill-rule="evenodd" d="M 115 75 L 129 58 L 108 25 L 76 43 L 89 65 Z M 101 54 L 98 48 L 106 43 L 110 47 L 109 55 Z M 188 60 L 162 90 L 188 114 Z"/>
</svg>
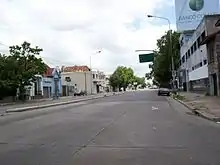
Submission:
<svg viewBox="0 0 220 165">
<path fill-rule="evenodd" d="M 16 73 L 17 85 L 21 96 L 25 93 L 25 86 L 31 85 L 36 81 L 37 74 L 43 74 L 46 71 L 46 65 L 40 57 L 43 49 L 31 47 L 31 44 L 24 42 L 19 45 L 10 46 L 9 59 L 14 60 L 14 69 Z"/>
</svg>

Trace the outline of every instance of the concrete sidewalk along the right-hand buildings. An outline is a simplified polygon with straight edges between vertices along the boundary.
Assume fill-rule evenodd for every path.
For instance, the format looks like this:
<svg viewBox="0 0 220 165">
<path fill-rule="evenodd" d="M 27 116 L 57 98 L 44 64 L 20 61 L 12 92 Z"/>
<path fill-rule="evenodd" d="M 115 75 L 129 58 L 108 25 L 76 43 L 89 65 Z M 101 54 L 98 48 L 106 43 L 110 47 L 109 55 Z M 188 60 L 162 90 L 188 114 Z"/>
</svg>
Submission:
<svg viewBox="0 0 220 165">
<path fill-rule="evenodd" d="M 179 95 L 183 96 L 179 101 L 196 114 L 209 120 L 220 121 L 220 97 L 190 92 L 180 92 Z"/>
</svg>

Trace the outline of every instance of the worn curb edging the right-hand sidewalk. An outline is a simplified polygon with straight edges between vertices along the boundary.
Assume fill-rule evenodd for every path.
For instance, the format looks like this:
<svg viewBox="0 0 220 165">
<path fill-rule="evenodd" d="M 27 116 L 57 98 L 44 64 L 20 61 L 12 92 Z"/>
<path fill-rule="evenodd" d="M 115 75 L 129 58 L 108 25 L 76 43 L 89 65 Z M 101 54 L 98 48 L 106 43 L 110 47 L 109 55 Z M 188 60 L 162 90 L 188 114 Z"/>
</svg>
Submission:
<svg viewBox="0 0 220 165">
<path fill-rule="evenodd" d="M 176 100 L 177 102 L 179 102 L 180 104 L 182 104 L 186 108 L 190 109 L 195 115 L 198 115 L 198 116 L 200 116 L 200 117 L 202 117 L 204 119 L 210 120 L 210 121 L 220 122 L 220 118 L 219 117 L 216 117 L 216 116 L 214 116 L 212 114 L 208 114 L 206 112 L 202 112 L 202 111 L 200 111 L 200 110 L 198 110 L 196 108 L 193 108 L 193 107 L 187 105 L 186 103 L 184 103 L 183 101 L 181 101 L 181 100 L 179 100 L 177 98 L 172 98 L 172 97 L 170 97 L 170 98 L 173 99 L 173 100 Z"/>
</svg>

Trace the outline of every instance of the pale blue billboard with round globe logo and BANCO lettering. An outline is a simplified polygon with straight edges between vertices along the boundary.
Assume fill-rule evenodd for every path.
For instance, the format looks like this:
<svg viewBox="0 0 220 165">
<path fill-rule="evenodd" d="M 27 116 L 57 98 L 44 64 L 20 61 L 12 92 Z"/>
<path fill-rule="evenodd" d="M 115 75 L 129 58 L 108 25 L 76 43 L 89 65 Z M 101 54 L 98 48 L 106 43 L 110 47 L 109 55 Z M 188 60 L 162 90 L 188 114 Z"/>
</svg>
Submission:
<svg viewBox="0 0 220 165">
<path fill-rule="evenodd" d="M 219 14 L 219 0 L 175 0 L 179 32 L 195 30 L 204 15 Z"/>
</svg>

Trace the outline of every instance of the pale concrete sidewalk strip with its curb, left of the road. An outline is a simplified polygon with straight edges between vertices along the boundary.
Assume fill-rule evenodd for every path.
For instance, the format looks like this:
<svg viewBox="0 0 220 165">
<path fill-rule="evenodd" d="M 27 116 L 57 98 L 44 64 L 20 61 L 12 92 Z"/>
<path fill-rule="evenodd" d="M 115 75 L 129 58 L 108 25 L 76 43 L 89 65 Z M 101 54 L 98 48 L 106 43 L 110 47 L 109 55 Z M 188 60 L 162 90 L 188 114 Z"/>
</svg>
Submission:
<svg viewBox="0 0 220 165">
<path fill-rule="evenodd" d="M 105 96 L 112 96 L 112 95 L 118 95 L 120 93 L 103 93 L 103 94 L 97 94 L 97 95 L 89 95 L 89 96 L 68 96 L 68 97 L 60 97 L 58 100 L 52 100 L 52 99 L 45 99 L 38 102 L 32 102 L 32 103 L 19 103 L 19 104 L 13 104 L 13 105 L 5 105 L 0 106 L 0 114 L 3 113 L 9 113 L 9 112 L 23 112 L 28 110 L 34 110 L 34 109 L 40 109 L 40 108 L 47 108 L 52 106 L 58 106 L 58 105 L 64 105 L 64 104 L 72 104 L 77 103 L 81 101 L 87 101 L 92 99 L 98 99 Z"/>
</svg>

